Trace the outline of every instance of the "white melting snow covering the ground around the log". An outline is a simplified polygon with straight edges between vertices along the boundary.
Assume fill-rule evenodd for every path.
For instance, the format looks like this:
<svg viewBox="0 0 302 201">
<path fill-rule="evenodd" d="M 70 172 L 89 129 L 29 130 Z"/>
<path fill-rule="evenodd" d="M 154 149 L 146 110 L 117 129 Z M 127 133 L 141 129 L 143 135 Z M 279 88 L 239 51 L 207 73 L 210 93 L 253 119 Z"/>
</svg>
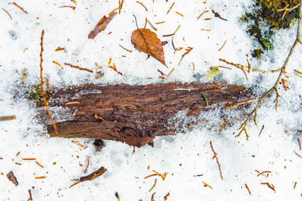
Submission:
<svg viewBox="0 0 302 201">
<path fill-rule="evenodd" d="M 219 62 L 219 58 L 229 62 L 246 65 L 248 58 L 253 67 L 261 69 L 276 69 L 282 67 L 289 50 L 296 38 L 297 22 L 290 30 L 279 31 L 274 35 L 274 49 L 266 51 L 261 59 L 251 57 L 250 50 L 260 47 L 245 32 L 246 24 L 240 17 L 246 10 L 252 8 L 252 1 L 245 0 L 178 0 L 166 14 L 173 1 L 141 0 L 145 8 L 135 0 L 124 0 L 120 15 L 116 15 L 106 30 L 99 33 L 93 40 L 88 39 L 88 33 L 94 28 L 105 14 L 108 15 L 118 7 L 117 0 L 83 0 L 77 1 L 76 9 L 59 8 L 63 5 L 75 4 L 72 1 L 62 0 L 27 0 L 17 1 L 28 14 L 18 7 L 8 4 L 10 1 L 0 1 L 0 7 L 6 9 L 11 17 L 1 9 L 0 11 L 0 116 L 16 115 L 16 120 L 0 122 L 0 198 L 1 200 L 24 200 L 29 198 L 28 189 L 31 189 L 33 200 L 75 200 L 115 201 L 115 192 L 118 192 L 121 201 L 163 200 L 163 196 L 170 193 L 168 201 L 183 200 L 298 200 L 301 199 L 302 179 L 300 172 L 301 158 L 294 150 L 302 155 L 297 137 L 302 138 L 297 130 L 302 129 L 301 105 L 302 88 L 301 78 L 295 75 L 294 69 L 301 71 L 302 45 L 297 45 L 291 60 L 286 68 L 289 78 L 285 91 L 282 84 L 278 85 L 278 111 L 275 111 L 275 93 L 268 97 L 258 110 L 256 126 L 251 120 L 247 126 L 249 140 L 244 133 L 240 137 L 237 128 L 243 120 L 238 120 L 240 111 L 222 109 L 222 104 L 210 105 L 210 111 L 202 113 L 195 120 L 199 124 L 193 128 L 186 128 L 192 121 L 179 112 L 174 119 L 182 125 L 183 130 L 174 136 L 156 137 L 154 147 L 144 146 L 137 148 L 132 155 L 133 148 L 120 142 L 106 141 L 101 151 L 96 151 L 90 139 L 73 139 L 87 146 L 86 149 L 71 142 L 72 139 L 50 138 L 44 124 L 46 117 L 40 117 L 43 109 L 37 109 L 35 103 L 24 99 L 22 95 L 28 92 L 21 83 L 28 87 L 40 83 L 39 54 L 41 31 L 44 34 L 43 76 L 47 77 L 50 89 L 54 87 L 66 88 L 73 85 L 93 83 L 100 85 L 128 83 L 149 84 L 158 82 L 207 82 L 206 72 L 211 66 L 227 66 Z M 215 18 L 211 10 L 214 9 L 223 18 Z M 197 17 L 204 11 L 199 20 Z M 184 15 L 181 17 L 175 11 Z M 145 18 L 155 26 L 155 32 L 161 41 L 167 40 L 164 46 L 165 61 L 169 68 L 152 57 L 146 60 L 147 55 L 134 49 L 130 42 L 131 33 L 136 29 L 135 19 L 138 19 L 139 28 L 144 27 Z M 212 20 L 204 20 L 212 18 Z M 165 21 L 162 24 L 155 22 Z M 183 47 L 174 53 L 172 37 L 162 37 L 164 34 L 174 33 L 176 48 Z M 151 27 L 147 24 L 147 28 Z M 209 29 L 211 31 L 201 31 Z M 108 34 L 112 32 L 111 34 Z M 218 52 L 227 40 L 224 48 Z M 119 47 L 133 50 L 131 53 Z M 55 52 L 58 47 L 65 50 Z M 193 47 L 178 66 L 185 48 Z M 25 48 L 28 48 L 25 50 Z M 248 57 L 246 57 L 248 55 Z M 108 66 L 109 59 L 115 64 L 119 75 Z M 64 69 L 52 63 L 60 63 Z M 79 67 L 87 67 L 94 71 L 79 71 L 65 66 L 70 63 Z M 97 68 L 97 63 L 103 68 Z M 192 63 L 195 70 L 193 71 Z M 167 80 L 158 78 L 160 69 L 168 74 L 175 68 Z M 220 75 L 216 80 L 225 80 L 229 84 L 253 87 L 255 94 L 262 94 L 270 89 L 278 73 L 248 74 L 248 80 L 240 69 L 219 68 Z M 95 75 L 104 72 L 104 76 L 95 79 Z M 148 78 L 153 79 L 148 79 Z M 285 77 L 283 77 L 285 78 Z M 13 96 L 16 96 L 13 98 Z M 255 103 L 248 108 L 248 113 Z M 60 111 L 57 112 L 57 111 Z M 62 114 L 62 108 L 50 110 L 53 119 L 58 122 L 63 117 L 71 116 L 70 111 Z M 65 116 L 63 116 L 65 115 Z M 223 117 L 223 118 L 222 118 Z M 207 124 L 205 120 L 215 124 Z M 228 120 L 223 132 L 220 128 Z M 259 136 L 262 126 L 264 130 Z M 213 152 L 210 140 L 221 165 L 224 180 L 216 160 L 212 160 Z M 20 151 L 20 154 L 16 154 Z M 78 156 L 78 157 L 77 157 Z M 22 158 L 36 158 L 43 168 L 35 161 L 24 161 Z M 89 167 L 87 173 L 84 169 Z M 53 163 L 56 163 L 53 165 Z M 22 165 L 17 165 L 20 163 Z M 79 165 L 82 166 L 79 166 Z M 180 166 L 182 164 L 182 166 Z M 106 167 L 107 172 L 93 181 L 86 181 L 69 188 L 74 179 L 87 175 L 100 167 Z M 147 167 L 150 166 L 150 169 Z M 168 172 L 163 181 L 160 177 L 144 177 L 153 174 Z M 19 185 L 16 187 L 6 178 L 12 170 Z M 269 170 L 266 174 L 259 172 Z M 203 174 L 202 176 L 195 176 Z M 37 176 L 46 176 L 45 179 L 35 179 Z M 157 184 L 149 192 L 157 178 Z M 203 183 L 209 184 L 204 187 Z M 273 184 L 274 193 L 261 182 Z M 297 182 L 294 189 L 295 182 Z M 252 195 L 245 188 L 247 184 Z"/>
</svg>

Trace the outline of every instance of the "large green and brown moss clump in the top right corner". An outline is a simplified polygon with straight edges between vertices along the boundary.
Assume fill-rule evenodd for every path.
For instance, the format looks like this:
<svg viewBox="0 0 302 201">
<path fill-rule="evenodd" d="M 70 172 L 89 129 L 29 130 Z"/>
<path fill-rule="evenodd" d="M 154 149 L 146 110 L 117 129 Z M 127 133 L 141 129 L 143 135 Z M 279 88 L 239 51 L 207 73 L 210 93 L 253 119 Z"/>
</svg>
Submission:
<svg viewBox="0 0 302 201">
<path fill-rule="evenodd" d="M 299 7 L 287 11 L 282 18 L 283 11 L 278 9 L 288 5 L 288 9 L 297 6 L 300 0 L 255 0 L 256 5 L 253 13 L 246 13 L 243 19 L 249 21 L 247 32 L 255 36 L 264 50 L 273 49 L 271 36 L 275 30 L 290 28 L 290 25 L 298 19 Z M 266 25 L 265 25 L 266 23 Z M 264 30 L 265 27 L 265 30 Z"/>
</svg>

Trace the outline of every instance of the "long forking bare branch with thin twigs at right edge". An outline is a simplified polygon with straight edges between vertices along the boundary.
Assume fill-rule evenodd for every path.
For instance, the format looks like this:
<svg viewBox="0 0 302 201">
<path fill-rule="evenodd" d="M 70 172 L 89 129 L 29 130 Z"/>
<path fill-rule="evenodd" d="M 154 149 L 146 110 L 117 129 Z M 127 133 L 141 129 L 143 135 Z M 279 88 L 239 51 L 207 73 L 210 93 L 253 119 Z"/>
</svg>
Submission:
<svg viewBox="0 0 302 201">
<path fill-rule="evenodd" d="M 275 108 L 276 108 L 276 111 L 277 111 L 277 105 L 278 105 L 278 98 L 280 97 L 279 93 L 278 93 L 278 90 L 277 90 L 277 86 L 279 84 L 279 81 L 281 80 L 281 77 L 283 75 L 283 73 L 285 72 L 285 69 L 287 67 L 287 64 L 297 46 L 297 44 L 300 42 L 302 44 L 302 40 L 301 40 L 301 37 L 300 37 L 300 31 L 301 31 L 301 24 L 302 24 L 302 0 L 301 0 L 301 4 L 300 4 L 300 9 L 299 9 L 299 19 L 298 19 L 298 30 L 297 30 L 297 37 L 296 37 L 296 40 L 283 64 L 282 67 L 278 68 L 278 69 L 275 69 L 275 70 L 261 70 L 261 69 L 257 69 L 257 68 L 254 68 L 254 67 L 251 67 L 251 65 L 249 64 L 248 62 L 248 66 L 243 66 L 243 65 L 240 65 L 240 64 L 233 64 L 233 63 L 229 63 L 227 62 L 226 60 L 223 60 L 223 59 L 220 59 L 220 61 L 223 61 L 229 65 L 232 65 L 232 66 L 235 66 L 235 67 L 238 67 L 238 68 L 241 68 L 242 70 L 245 69 L 245 68 L 248 68 L 248 70 L 252 69 L 253 71 L 258 71 L 258 72 L 263 72 L 263 73 L 266 73 L 266 72 L 279 72 L 280 71 L 280 74 L 274 84 L 274 86 L 272 88 L 270 88 L 262 97 L 258 98 L 258 99 L 254 99 L 254 100 L 246 100 L 246 101 L 243 101 L 243 102 L 239 102 L 231 107 L 227 107 L 226 109 L 232 109 L 234 107 L 237 107 L 241 104 L 247 104 L 247 103 L 250 103 L 250 102 L 255 102 L 255 101 L 258 101 L 256 107 L 253 109 L 253 111 L 249 114 L 249 116 L 247 117 L 247 119 L 245 120 L 245 122 L 243 122 L 241 124 L 241 127 L 238 129 L 238 130 L 241 130 L 239 132 L 239 134 L 237 134 L 235 137 L 238 137 L 240 136 L 240 134 L 244 131 L 245 134 L 246 134 L 246 139 L 248 140 L 249 139 L 249 135 L 247 134 L 247 131 L 246 131 L 246 126 L 248 124 L 248 122 L 250 121 L 252 115 L 255 113 L 255 117 L 254 117 L 254 122 L 255 124 L 257 125 L 257 122 L 256 122 L 256 118 L 257 118 L 257 110 L 260 106 L 260 104 L 262 103 L 262 101 L 268 96 L 270 95 L 273 91 L 276 92 L 276 99 L 274 100 L 274 102 L 276 103 L 275 104 Z M 244 70 L 243 70 L 244 71 Z"/>
</svg>

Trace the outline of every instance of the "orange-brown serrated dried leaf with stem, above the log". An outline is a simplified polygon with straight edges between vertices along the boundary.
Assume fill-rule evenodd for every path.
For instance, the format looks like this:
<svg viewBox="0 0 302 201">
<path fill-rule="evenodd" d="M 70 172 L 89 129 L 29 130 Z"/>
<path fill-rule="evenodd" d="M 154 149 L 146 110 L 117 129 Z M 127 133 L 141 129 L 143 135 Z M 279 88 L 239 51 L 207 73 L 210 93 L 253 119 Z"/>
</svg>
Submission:
<svg viewBox="0 0 302 201">
<path fill-rule="evenodd" d="M 152 56 L 167 67 L 162 43 L 154 32 L 149 29 L 134 30 L 131 35 L 131 43 L 139 52 L 144 52 Z"/>
</svg>

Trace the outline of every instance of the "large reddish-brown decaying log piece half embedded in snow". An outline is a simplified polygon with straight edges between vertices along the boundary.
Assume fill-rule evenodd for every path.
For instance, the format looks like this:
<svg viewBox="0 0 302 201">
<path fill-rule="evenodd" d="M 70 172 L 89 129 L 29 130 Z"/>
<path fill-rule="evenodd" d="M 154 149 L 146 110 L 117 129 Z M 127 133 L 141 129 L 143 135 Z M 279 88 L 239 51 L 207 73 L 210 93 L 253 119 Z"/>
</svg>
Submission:
<svg viewBox="0 0 302 201">
<path fill-rule="evenodd" d="M 174 134 L 167 121 L 176 113 L 188 110 L 187 115 L 199 115 L 209 105 L 224 102 L 233 105 L 248 98 L 250 91 L 243 86 L 215 83 L 158 83 L 150 85 L 84 85 L 53 92 L 51 106 L 70 109 L 72 120 L 56 123 L 59 134 L 47 125 L 51 137 L 85 137 L 125 142 L 141 147 L 153 145 L 158 135 Z M 65 97 L 65 98 L 62 98 Z M 66 104 L 68 102 L 79 102 Z M 96 118 L 100 117 L 100 118 Z"/>
</svg>

